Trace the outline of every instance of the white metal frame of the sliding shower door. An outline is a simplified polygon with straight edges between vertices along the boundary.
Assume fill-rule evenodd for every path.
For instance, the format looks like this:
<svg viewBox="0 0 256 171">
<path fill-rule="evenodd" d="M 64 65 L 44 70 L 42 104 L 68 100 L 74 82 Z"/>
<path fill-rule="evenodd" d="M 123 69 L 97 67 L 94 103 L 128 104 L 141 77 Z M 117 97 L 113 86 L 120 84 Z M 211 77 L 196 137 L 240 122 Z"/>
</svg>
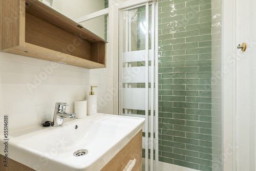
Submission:
<svg viewBox="0 0 256 171">
<path fill-rule="evenodd" d="M 135 2 L 135 1 L 134 1 Z M 145 6 L 145 13 L 146 13 L 146 33 L 145 34 L 145 71 L 148 71 L 148 57 L 149 57 L 149 47 L 148 47 L 148 33 L 149 33 L 149 22 L 148 22 L 148 7 L 152 6 L 152 27 L 151 27 L 151 37 L 152 37 L 152 44 L 151 44 L 151 101 L 149 101 L 148 97 L 148 80 L 149 80 L 149 73 L 145 72 L 145 170 L 148 170 L 148 103 L 151 103 L 151 130 L 150 130 L 150 152 L 151 152 L 151 160 L 150 160 L 150 170 L 158 170 L 158 5 L 157 3 L 141 3 L 132 5 L 132 4 L 126 4 L 127 8 L 123 6 L 123 8 L 119 8 L 119 75 L 118 75 L 118 82 L 119 82 L 119 100 L 118 100 L 118 114 L 122 115 L 123 113 L 123 107 L 122 107 L 122 53 L 123 53 L 123 37 L 121 34 L 121 31 L 123 31 L 123 11 L 135 9 L 138 7 Z M 131 19 L 131 17 L 130 17 Z M 126 24 L 129 23 L 129 20 L 126 20 Z M 128 26 L 129 27 L 129 26 Z M 130 28 L 130 27 L 129 27 Z M 131 29 L 131 28 L 130 28 Z M 125 29 L 125 31 L 128 29 Z M 129 42 L 131 38 L 127 36 L 128 33 L 125 33 L 125 39 Z M 126 47 L 128 43 L 125 44 L 125 51 L 129 50 L 128 47 Z M 131 46 L 130 46 L 131 47 Z M 155 86 L 155 88 L 154 88 Z M 153 98 L 154 97 L 154 98 Z M 155 110 L 154 110 L 155 109 Z M 152 112 L 153 111 L 153 112 Z M 155 118 L 154 118 L 154 111 L 155 111 Z M 154 123 L 155 120 L 155 123 Z M 155 128 L 155 130 L 154 130 Z M 154 142 L 154 133 L 155 133 L 155 142 Z M 154 165 L 154 146 L 155 146 L 155 165 Z M 155 168 L 155 169 L 154 169 Z"/>
</svg>

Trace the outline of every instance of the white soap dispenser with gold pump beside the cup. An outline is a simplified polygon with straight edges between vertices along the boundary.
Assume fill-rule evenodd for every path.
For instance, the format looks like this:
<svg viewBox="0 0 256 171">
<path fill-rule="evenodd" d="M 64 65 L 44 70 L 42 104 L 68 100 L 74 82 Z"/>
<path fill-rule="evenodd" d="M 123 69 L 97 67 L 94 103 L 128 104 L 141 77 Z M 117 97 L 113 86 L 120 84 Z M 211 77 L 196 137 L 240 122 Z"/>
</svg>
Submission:
<svg viewBox="0 0 256 171">
<path fill-rule="evenodd" d="M 94 95 L 93 88 L 97 86 L 91 86 L 91 91 L 89 95 L 86 96 L 87 99 L 87 115 L 97 114 L 97 95 Z"/>
</svg>

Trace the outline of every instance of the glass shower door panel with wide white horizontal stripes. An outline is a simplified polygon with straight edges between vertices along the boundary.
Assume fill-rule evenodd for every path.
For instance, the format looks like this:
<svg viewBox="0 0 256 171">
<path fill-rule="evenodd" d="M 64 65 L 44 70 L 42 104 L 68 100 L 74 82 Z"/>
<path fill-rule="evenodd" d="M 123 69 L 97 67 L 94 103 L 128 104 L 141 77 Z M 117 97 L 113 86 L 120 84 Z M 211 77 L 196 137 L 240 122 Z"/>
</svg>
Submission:
<svg viewBox="0 0 256 171">
<path fill-rule="evenodd" d="M 120 11 L 119 115 L 145 118 L 142 157 L 153 170 L 155 89 L 154 10 L 152 4 Z M 119 87 L 119 88 L 120 88 Z M 153 123 L 152 123 L 153 122 Z M 148 161 L 151 159 L 151 161 Z M 149 170 L 145 167 L 143 170 Z"/>
</svg>

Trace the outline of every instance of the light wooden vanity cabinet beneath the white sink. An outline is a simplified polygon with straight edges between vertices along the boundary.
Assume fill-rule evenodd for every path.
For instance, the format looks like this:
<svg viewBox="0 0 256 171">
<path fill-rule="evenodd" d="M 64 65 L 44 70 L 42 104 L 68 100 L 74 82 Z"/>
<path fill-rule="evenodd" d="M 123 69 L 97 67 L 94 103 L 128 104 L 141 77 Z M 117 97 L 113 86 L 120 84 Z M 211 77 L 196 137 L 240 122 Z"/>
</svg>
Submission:
<svg viewBox="0 0 256 171">
<path fill-rule="evenodd" d="M 142 130 L 133 137 L 100 171 L 122 171 L 130 160 L 136 160 L 132 171 L 142 170 Z M 4 166 L 4 156 L 0 155 L 1 171 L 35 171 L 34 169 L 8 159 L 8 167 Z M 95 170 L 96 171 L 96 170 Z"/>
</svg>

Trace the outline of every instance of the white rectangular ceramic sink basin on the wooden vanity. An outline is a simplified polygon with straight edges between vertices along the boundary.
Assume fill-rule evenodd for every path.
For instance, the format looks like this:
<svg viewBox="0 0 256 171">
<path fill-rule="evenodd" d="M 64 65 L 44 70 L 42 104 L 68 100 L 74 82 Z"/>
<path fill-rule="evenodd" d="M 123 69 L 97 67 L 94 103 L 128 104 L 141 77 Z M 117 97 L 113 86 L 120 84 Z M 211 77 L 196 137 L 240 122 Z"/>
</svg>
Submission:
<svg viewBox="0 0 256 171">
<path fill-rule="evenodd" d="M 66 119 L 60 127 L 37 126 L 11 132 L 8 155 L 35 170 L 100 170 L 142 129 L 144 120 L 98 114 Z M 2 136 L 1 149 L 3 139 Z M 75 153 L 80 149 L 88 153 Z"/>
</svg>

